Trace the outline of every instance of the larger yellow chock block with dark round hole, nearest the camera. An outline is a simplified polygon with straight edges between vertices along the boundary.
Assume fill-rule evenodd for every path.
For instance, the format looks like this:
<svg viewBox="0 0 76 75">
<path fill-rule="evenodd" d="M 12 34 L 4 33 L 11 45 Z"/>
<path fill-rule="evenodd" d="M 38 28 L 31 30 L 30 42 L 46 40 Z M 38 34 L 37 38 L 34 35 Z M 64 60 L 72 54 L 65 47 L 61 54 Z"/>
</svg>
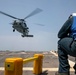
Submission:
<svg viewBox="0 0 76 75">
<path fill-rule="evenodd" d="M 22 75 L 22 68 L 22 58 L 7 58 L 5 60 L 5 75 Z"/>
</svg>

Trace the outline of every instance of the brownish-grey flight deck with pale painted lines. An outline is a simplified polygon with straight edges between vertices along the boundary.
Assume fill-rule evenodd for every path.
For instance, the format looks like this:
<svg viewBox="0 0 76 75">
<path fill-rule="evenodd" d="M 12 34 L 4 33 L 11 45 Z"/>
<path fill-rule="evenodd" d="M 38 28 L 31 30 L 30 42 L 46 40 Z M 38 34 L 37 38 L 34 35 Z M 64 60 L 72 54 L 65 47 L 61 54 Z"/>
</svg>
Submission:
<svg viewBox="0 0 76 75">
<path fill-rule="evenodd" d="M 58 71 L 58 56 L 56 51 L 46 51 L 46 52 L 0 52 L 0 75 L 4 75 L 4 62 L 6 58 L 9 57 L 22 57 L 30 58 L 33 57 L 34 54 L 43 54 L 43 73 L 41 75 L 55 75 L 55 72 Z M 72 68 L 75 64 L 75 58 L 69 56 L 70 63 L 70 73 L 74 74 L 74 69 Z M 23 75 L 34 75 L 33 74 L 33 62 L 29 62 L 23 65 Z"/>
</svg>

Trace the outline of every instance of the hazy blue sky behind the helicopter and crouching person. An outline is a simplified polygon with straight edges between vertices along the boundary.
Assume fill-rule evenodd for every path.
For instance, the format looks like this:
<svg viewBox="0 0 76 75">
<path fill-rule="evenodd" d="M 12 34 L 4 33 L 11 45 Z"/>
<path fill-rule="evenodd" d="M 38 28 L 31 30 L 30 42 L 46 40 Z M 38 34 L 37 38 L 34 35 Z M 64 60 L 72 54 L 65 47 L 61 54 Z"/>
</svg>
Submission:
<svg viewBox="0 0 76 75">
<path fill-rule="evenodd" d="M 18 18 L 25 18 L 36 8 L 43 11 L 26 19 L 29 34 L 34 37 L 22 38 L 21 33 L 13 32 L 10 23 L 14 19 L 0 14 L 0 50 L 57 50 L 58 31 L 76 12 L 76 0 L 0 0 L 0 11 Z"/>
</svg>

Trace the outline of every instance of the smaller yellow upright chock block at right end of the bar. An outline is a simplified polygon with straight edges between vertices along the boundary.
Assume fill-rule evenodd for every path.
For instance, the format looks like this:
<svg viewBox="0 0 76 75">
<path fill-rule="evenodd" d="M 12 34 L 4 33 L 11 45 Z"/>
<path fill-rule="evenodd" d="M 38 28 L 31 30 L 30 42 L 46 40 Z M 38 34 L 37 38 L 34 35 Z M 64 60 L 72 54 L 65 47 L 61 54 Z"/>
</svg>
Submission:
<svg viewBox="0 0 76 75">
<path fill-rule="evenodd" d="M 42 54 L 35 54 L 34 57 L 38 57 L 38 59 L 34 60 L 33 73 L 38 75 L 38 74 L 42 73 L 43 55 Z"/>
</svg>

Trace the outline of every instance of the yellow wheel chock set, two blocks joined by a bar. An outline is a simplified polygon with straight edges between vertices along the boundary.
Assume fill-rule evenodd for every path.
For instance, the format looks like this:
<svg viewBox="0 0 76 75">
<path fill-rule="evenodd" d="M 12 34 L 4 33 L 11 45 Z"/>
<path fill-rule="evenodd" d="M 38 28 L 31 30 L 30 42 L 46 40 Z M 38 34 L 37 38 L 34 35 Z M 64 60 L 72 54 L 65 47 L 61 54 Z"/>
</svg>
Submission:
<svg viewBox="0 0 76 75">
<path fill-rule="evenodd" d="M 22 59 L 22 58 L 7 58 L 5 60 L 5 75 L 22 75 L 23 64 L 34 61 L 34 74 L 42 73 L 42 54 L 35 54 L 34 57 Z"/>
</svg>

